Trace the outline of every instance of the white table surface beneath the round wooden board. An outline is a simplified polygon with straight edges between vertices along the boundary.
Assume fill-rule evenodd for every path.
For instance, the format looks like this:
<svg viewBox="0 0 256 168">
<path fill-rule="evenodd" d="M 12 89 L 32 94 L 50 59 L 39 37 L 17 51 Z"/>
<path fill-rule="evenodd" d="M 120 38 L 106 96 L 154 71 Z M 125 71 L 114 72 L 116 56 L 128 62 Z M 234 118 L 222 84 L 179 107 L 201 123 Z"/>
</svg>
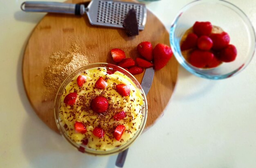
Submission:
<svg viewBox="0 0 256 168">
<path fill-rule="evenodd" d="M 161 0 L 147 7 L 170 29 L 190 1 Z M 256 27 L 256 0 L 229 1 Z M 22 84 L 22 56 L 44 14 L 20 11 L 22 2 L 0 0 L 0 168 L 114 168 L 117 155 L 77 152 L 31 108 Z M 180 67 L 164 116 L 132 145 L 124 167 L 255 168 L 256 57 L 243 72 L 220 81 Z"/>
</svg>

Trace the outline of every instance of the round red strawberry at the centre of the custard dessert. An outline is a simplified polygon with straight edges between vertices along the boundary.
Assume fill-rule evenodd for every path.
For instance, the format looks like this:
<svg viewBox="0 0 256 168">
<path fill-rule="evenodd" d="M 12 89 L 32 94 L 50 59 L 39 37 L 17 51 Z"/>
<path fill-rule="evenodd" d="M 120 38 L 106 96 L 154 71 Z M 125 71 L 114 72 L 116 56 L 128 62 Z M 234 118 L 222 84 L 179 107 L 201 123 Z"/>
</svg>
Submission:
<svg viewBox="0 0 256 168">
<path fill-rule="evenodd" d="M 105 97 L 97 96 L 92 99 L 91 108 L 97 113 L 106 112 L 108 110 L 108 100 Z"/>
</svg>

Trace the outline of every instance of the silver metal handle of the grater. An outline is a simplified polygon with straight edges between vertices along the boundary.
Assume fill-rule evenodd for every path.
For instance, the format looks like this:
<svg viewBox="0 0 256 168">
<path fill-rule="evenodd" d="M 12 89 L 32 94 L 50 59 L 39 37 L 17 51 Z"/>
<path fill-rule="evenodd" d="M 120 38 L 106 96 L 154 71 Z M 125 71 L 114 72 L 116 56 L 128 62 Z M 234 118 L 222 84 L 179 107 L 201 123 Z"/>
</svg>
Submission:
<svg viewBox="0 0 256 168">
<path fill-rule="evenodd" d="M 61 2 L 26 1 L 20 5 L 20 8 L 26 12 L 53 12 L 75 15 L 83 15 L 85 12 L 83 4 L 67 4 Z"/>
</svg>

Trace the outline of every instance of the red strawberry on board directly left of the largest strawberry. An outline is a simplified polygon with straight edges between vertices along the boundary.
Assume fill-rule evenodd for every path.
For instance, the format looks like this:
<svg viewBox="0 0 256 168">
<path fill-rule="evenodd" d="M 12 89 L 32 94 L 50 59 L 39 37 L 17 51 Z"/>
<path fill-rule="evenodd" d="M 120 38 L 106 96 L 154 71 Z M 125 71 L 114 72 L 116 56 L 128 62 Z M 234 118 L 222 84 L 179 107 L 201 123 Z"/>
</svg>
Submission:
<svg viewBox="0 0 256 168">
<path fill-rule="evenodd" d="M 153 60 L 153 47 L 150 42 L 144 41 L 139 43 L 139 45 L 137 46 L 137 51 L 146 60 L 149 60 L 149 61 Z"/>
</svg>

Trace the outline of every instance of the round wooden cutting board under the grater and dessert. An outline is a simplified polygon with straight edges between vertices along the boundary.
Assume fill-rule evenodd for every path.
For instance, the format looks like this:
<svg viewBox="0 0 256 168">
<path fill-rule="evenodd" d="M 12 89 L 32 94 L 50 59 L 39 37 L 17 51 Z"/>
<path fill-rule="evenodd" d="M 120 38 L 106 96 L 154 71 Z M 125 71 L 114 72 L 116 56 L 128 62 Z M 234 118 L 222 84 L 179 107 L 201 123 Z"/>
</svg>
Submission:
<svg viewBox="0 0 256 168">
<path fill-rule="evenodd" d="M 79 2 L 81 0 L 67 1 L 67 3 Z M 54 120 L 56 93 L 47 90 L 43 84 L 43 76 L 45 68 L 50 65 L 49 56 L 54 52 L 67 51 L 71 47 L 71 38 L 81 45 L 82 52 L 89 52 L 91 55 L 88 57 L 89 63 L 114 63 L 110 55 L 112 48 L 123 49 L 127 57 L 135 59 L 139 56 L 137 45 L 142 41 L 150 41 L 153 46 L 157 43 L 170 45 L 168 31 L 150 11 L 147 11 L 145 29 L 135 37 L 128 37 L 124 29 L 93 26 L 89 23 L 86 15 L 48 13 L 35 27 L 28 40 L 23 58 L 22 74 L 28 99 L 36 114 L 56 132 L 58 132 Z M 177 72 L 178 63 L 174 56 L 163 69 L 155 72 L 152 87 L 147 95 L 146 128 L 153 125 L 163 115 L 162 112 L 176 85 Z M 143 75 L 144 73 L 135 75 L 135 77 L 141 82 Z"/>
</svg>

